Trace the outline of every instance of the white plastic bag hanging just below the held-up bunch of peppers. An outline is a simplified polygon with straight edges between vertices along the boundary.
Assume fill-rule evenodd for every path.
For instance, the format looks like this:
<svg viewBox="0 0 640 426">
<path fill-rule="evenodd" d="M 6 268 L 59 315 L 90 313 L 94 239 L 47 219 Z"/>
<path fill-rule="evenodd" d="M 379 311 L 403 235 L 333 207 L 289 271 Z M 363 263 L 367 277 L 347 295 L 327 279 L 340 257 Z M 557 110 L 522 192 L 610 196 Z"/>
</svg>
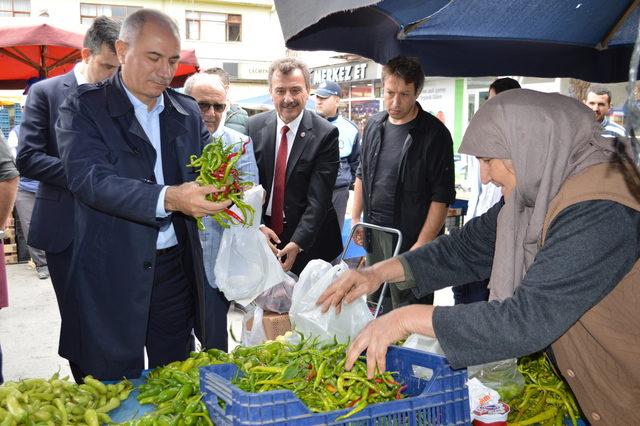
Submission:
<svg viewBox="0 0 640 426">
<path fill-rule="evenodd" d="M 287 274 L 269 247 L 267 237 L 259 229 L 263 194 L 264 189 L 260 185 L 244 193 L 245 202 L 256 212 L 253 224 L 224 230 L 213 269 L 220 291 L 227 299 L 243 306 L 287 279 Z"/>
</svg>

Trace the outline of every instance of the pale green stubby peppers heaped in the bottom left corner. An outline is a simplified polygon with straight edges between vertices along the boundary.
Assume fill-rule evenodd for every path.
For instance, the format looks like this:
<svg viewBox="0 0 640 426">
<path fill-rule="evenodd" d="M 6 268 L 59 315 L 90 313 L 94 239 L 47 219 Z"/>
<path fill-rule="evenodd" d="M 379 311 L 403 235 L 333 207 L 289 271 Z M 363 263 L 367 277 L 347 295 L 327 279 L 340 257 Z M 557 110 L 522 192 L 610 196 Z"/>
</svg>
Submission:
<svg viewBox="0 0 640 426">
<path fill-rule="evenodd" d="M 49 380 L 7 382 L 0 386 L 0 425 L 111 423 L 107 413 L 120 406 L 131 390 L 128 380 L 104 384 L 87 376 L 78 385 L 57 373 Z"/>
</svg>

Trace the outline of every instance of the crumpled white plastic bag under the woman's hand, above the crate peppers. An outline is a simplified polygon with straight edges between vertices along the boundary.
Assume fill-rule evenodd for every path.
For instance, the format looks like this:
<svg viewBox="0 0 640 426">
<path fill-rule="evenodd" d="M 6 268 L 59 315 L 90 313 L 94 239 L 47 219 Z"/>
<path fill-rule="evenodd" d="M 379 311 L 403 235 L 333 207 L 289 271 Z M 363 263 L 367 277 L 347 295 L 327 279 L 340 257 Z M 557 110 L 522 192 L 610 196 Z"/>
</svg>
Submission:
<svg viewBox="0 0 640 426">
<path fill-rule="evenodd" d="M 347 269 L 344 262 L 333 267 L 320 259 L 309 262 L 293 288 L 289 317 L 296 330 L 308 337 L 318 336 L 321 341 L 333 340 L 335 336 L 339 342 L 346 343 L 373 319 L 364 296 L 350 304 L 344 303 L 339 315 L 333 307 L 323 314 L 321 307 L 316 306 L 320 294 Z"/>
</svg>

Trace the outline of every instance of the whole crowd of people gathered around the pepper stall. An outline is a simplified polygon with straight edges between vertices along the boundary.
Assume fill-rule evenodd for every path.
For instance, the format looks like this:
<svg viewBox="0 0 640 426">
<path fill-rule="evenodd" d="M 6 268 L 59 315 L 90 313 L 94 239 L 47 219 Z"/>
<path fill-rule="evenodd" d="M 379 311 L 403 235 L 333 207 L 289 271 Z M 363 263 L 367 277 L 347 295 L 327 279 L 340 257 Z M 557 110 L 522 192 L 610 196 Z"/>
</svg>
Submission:
<svg viewBox="0 0 640 426">
<path fill-rule="evenodd" d="M 337 258 L 350 188 L 352 224 L 402 232 L 391 259 L 393 237 L 358 232 L 369 266 L 318 300 L 339 310 L 391 283 L 347 368 L 366 350 L 369 375 L 384 370 L 387 346 L 413 332 L 437 337 L 455 368 L 546 349 L 593 421 L 638 420 L 640 202 L 617 163 L 614 141 L 626 139 L 607 116 L 606 88 L 583 104 L 496 80 L 460 148 L 478 161 L 468 223 L 443 235 L 453 141 L 417 102 L 416 60 L 384 65 L 384 110 L 361 136 L 339 110 L 340 85 L 312 88 L 297 59 L 271 64 L 275 109 L 249 117 L 220 68 L 192 75 L 184 93 L 170 89 L 179 54 L 178 27 L 162 12 L 98 17 L 82 61 L 30 88 L 15 164 L 0 144 L 0 224 L 22 196 L 18 172 L 39 182 L 32 213 L 20 215 L 44 253 L 32 256 L 48 267 L 59 353 L 78 382 L 138 377 L 145 351 L 153 368 L 186 358 L 195 338 L 227 350 L 230 302 L 213 272 L 223 229 L 208 217 L 231 202 L 208 201 L 215 187 L 186 166 L 215 137 L 250 142 L 238 168 L 266 190 L 257 216 L 283 270 Z M 305 109 L 312 92 L 316 112 Z M 452 285 L 456 306 L 432 306 Z"/>
</svg>

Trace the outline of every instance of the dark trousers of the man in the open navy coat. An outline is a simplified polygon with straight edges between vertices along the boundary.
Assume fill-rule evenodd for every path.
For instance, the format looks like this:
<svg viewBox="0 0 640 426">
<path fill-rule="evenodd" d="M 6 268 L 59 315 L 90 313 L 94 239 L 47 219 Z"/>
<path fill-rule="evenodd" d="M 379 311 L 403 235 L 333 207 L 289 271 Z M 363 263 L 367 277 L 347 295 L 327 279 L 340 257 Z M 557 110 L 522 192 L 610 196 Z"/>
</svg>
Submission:
<svg viewBox="0 0 640 426">
<path fill-rule="evenodd" d="M 194 289 L 184 273 L 180 248 L 158 250 L 155 266 L 145 342 L 149 368 L 182 361 L 195 348 Z M 74 379 L 81 383 L 86 373 L 77 364 L 69 364 Z"/>
</svg>

